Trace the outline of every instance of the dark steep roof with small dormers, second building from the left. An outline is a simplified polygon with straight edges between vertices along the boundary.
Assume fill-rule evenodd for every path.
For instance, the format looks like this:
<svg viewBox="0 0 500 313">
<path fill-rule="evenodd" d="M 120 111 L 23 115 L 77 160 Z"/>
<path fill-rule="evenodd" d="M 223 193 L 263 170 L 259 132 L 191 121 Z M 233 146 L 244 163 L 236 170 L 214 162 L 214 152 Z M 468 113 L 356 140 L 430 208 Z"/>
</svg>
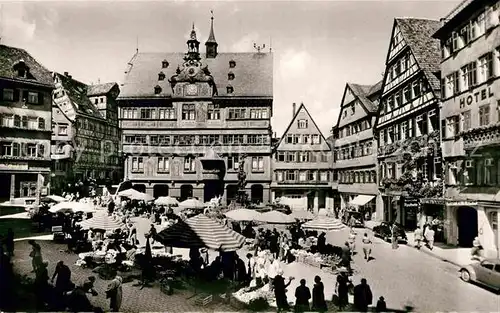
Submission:
<svg viewBox="0 0 500 313">
<path fill-rule="evenodd" d="M 64 88 L 64 91 L 71 100 L 71 104 L 77 113 L 83 113 L 85 115 L 90 115 L 96 118 L 102 119 L 101 113 L 94 106 L 94 104 L 89 100 L 87 96 L 88 86 L 72 77 L 54 73 Z"/>
</svg>

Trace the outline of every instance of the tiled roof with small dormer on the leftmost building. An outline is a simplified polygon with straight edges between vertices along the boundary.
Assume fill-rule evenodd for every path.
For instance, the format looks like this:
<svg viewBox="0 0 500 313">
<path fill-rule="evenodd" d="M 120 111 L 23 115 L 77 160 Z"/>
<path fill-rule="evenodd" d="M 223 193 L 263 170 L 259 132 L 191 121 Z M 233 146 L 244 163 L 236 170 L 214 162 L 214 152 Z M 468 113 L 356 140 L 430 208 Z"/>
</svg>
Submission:
<svg viewBox="0 0 500 313">
<path fill-rule="evenodd" d="M 23 61 L 29 68 L 30 77 L 17 76 L 14 66 L 20 61 Z M 48 69 L 38 63 L 26 50 L 6 45 L 0 45 L 0 77 L 54 88 L 54 81 Z"/>
</svg>

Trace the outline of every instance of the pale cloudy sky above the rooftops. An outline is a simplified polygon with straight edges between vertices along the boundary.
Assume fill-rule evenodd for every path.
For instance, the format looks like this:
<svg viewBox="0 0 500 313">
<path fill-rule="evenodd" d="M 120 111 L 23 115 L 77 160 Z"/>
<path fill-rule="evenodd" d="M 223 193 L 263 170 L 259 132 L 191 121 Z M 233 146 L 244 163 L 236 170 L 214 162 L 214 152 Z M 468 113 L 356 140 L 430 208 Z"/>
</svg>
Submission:
<svg viewBox="0 0 500 313">
<path fill-rule="evenodd" d="M 121 82 L 136 47 L 184 52 L 192 23 L 204 43 L 213 10 L 219 52 L 272 47 L 273 131 L 281 136 L 292 103 L 303 102 L 328 137 L 346 82 L 382 79 L 394 18 L 440 19 L 460 2 L 0 0 L 0 36 L 51 71 L 87 84 Z"/>
</svg>

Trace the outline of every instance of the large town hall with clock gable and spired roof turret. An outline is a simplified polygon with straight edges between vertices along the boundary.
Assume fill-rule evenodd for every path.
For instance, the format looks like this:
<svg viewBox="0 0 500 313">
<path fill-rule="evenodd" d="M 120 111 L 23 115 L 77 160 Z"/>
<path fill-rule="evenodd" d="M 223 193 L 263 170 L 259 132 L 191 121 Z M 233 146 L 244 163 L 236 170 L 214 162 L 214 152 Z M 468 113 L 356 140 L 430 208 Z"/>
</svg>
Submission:
<svg viewBox="0 0 500 313">
<path fill-rule="evenodd" d="M 208 201 L 237 195 L 241 162 L 254 203 L 271 184 L 273 57 L 206 51 L 191 31 L 186 53 L 137 53 L 120 86 L 125 179 L 154 197 Z"/>
</svg>

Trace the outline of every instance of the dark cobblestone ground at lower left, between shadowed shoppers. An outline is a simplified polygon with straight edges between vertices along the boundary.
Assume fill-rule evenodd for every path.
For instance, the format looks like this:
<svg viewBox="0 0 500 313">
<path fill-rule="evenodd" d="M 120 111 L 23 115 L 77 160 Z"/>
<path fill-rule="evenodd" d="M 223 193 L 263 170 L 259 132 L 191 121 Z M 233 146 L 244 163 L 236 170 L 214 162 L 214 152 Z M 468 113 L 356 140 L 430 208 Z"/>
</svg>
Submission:
<svg viewBox="0 0 500 313">
<path fill-rule="evenodd" d="M 84 269 L 74 266 L 77 255 L 66 253 L 65 245 L 58 245 L 52 242 L 39 241 L 42 247 L 42 255 L 44 260 L 49 261 L 49 276 L 54 272 L 57 261 L 62 260 L 70 266 L 72 271 L 72 280 L 75 283 L 83 281 L 89 275 L 93 275 L 90 269 Z M 14 267 L 17 273 L 27 274 L 34 277 L 30 273 L 31 251 L 27 241 L 16 242 L 15 246 Z M 105 290 L 108 281 L 97 279 L 96 291 L 99 293 L 97 297 L 90 297 L 91 302 L 95 306 L 103 309 L 109 309 L 109 300 L 105 299 Z M 144 288 L 133 286 L 135 282 L 126 283 L 123 285 L 123 303 L 122 312 L 214 312 L 214 311 L 235 311 L 233 308 L 223 303 L 213 303 L 206 307 L 200 307 L 194 304 L 192 299 L 187 299 L 192 295 L 189 291 L 178 291 L 171 295 L 163 294 L 158 286 L 153 288 Z"/>
</svg>

